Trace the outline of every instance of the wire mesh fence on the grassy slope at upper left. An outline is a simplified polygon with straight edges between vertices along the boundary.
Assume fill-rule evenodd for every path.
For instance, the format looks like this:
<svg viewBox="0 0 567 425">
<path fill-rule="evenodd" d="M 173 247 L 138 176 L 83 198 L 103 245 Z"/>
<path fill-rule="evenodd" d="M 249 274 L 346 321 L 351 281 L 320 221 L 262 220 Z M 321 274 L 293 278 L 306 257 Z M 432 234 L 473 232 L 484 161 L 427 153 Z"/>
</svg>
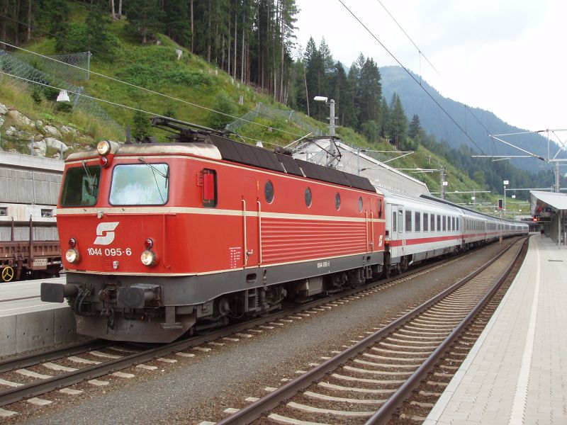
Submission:
<svg viewBox="0 0 567 425">
<path fill-rule="evenodd" d="M 74 55 L 57 55 L 52 58 L 64 62 L 64 64 L 35 55 L 12 55 L 5 50 L 0 50 L 0 69 L 6 74 L 19 77 L 28 81 L 28 84 L 48 84 L 66 90 L 69 101 L 73 108 L 80 108 L 92 118 L 101 123 L 111 126 L 118 132 L 124 132 L 124 128 L 118 125 L 106 111 L 92 98 L 86 95 L 82 86 L 70 84 L 68 81 L 84 81 L 89 79 L 90 52 L 77 53 Z M 74 64 L 83 69 L 69 67 Z"/>
</svg>

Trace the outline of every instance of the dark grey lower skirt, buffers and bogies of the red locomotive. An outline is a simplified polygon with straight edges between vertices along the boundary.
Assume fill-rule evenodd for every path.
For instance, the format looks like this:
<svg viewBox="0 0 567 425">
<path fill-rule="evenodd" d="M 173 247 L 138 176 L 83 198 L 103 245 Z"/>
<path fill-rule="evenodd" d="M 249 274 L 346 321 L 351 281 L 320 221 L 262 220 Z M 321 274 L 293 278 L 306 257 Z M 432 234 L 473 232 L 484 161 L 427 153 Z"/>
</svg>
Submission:
<svg viewBox="0 0 567 425">
<path fill-rule="evenodd" d="M 377 278 L 383 253 L 246 268 L 203 276 L 126 276 L 67 272 L 42 283 L 41 300 L 74 310 L 77 332 L 96 338 L 169 342 L 192 331 L 254 317 Z"/>
</svg>

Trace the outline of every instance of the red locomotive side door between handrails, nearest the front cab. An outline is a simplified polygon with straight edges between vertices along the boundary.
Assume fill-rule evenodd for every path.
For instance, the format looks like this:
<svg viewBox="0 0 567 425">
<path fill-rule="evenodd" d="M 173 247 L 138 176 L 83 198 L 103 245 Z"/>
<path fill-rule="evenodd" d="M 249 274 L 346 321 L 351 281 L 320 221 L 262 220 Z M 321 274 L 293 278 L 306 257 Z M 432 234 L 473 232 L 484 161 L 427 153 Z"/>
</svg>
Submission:
<svg viewBox="0 0 567 425">
<path fill-rule="evenodd" d="M 257 179 L 245 178 L 242 193 L 242 265 L 259 264 L 259 208 Z"/>
</svg>

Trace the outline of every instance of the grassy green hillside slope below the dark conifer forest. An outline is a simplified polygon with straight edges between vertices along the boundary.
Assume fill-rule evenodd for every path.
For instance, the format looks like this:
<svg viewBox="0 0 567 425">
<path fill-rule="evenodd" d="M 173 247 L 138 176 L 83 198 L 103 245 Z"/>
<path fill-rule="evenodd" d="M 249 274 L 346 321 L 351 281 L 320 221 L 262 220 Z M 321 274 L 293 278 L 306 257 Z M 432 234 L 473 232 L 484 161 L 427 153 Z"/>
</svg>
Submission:
<svg viewBox="0 0 567 425">
<path fill-rule="evenodd" d="M 71 1 L 68 6 L 71 10 L 71 21 L 84 22 L 86 15 L 84 4 Z M 264 147 L 269 147 L 287 145 L 293 140 L 304 137 L 310 132 L 306 130 L 305 125 L 325 132 L 325 123 L 296 111 L 291 114 L 291 109 L 274 101 L 273 95 L 254 89 L 254 86 L 240 83 L 238 79 L 218 69 L 215 64 L 192 55 L 189 50 L 176 44 L 166 35 L 157 34 L 152 43 L 143 45 L 128 30 L 128 21 L 125 18 L 108 23 L 107 28 L 112 35 L 112 55 L 94 52 L 90 62 L 89 79 L 66 81 L 84 87 L 86 94 L 100 99 L 101 101 L 97 103 L 118 124 L 116 127 L 97 120 L 89 114 L 89 111 L 81 108 L 76 108 L 74 111 L 61 110 L 52 97 L 51 100 L 47 100 L 49 96 L 46 96 L 45 92 L 49 90 L 44 86 L 38 87 L 5 75 L 0 75 L 0 103 L 25 113 L 32 120 L 70 124 L 92 137 L 94 142 L 101 139 L 124 141 L 125 132 L 120 130 L 120 127 L 125 129 L 127 125 L 132 126 L 132 133 L 135 136 L 157 135 L 159 140 L 167 140 L 166 133 L 147 127 L 148 118 L 152 115 L 165 115 L 198 125 L 223 128 L 225 124 L 253 111 L 258 103 L 269 106 L 271 111 L 279 110 L 287 113 L 259 115 L 254 118 L 254 123 L 247 123 L 237 128 L 238 136 L 232 136 L 235 140 L 245 140 L 249 143 L 261 140 Z M 21 47 L 41 55 L 57 55 L 56 42 L 54 38 L 44 36 L 35 38 Z M 182 52 L 181 58 L 178 58 L 178 50 Z M 13 49 L 11 54 L 26 59 L 31 64 L 35 63 L 34 59 L 29 60 L 29 54 L 21 50 Z M 55 82 L 50 84 L 57 86 Z M 284 118 L 288 113 L 298 117 L 298 120 L 305 125 L 298 125 L 293 120 Z M 5 128 L 6 124 L 0 128 L 0 132 L 4 132 Z M 350 128 L 339 127 L 338 134 L 349 145 L 375 150 L 394 150 L 386 140 L 378 137 L 376 141 L 369 142 L 359 132 Z M 415 150 L 414 154 L 397 159 L 389 165 L 400 169 L 444 168 L 449 181 L 446 190 L 449 192 L 478 188 L 478 181 L 469 179 L 466 171 L 463 172 L 452 166 L 444 157 L 430 152 L 420 143 L 410 140 L 410 145 Z M 2 135 L 2 147 L 27 152 L 26 140 L 10 140 L 4 135 Z M 389 158 L 391 157 L 382 156 L 378 159 Z M 412 174 L 408 171 L 408 174 L 427 183 L 430 191 L 439 191 L 438 173 Z M 470 194 L 454 194 L 448 198 L 455 202 L 471 202 Z M 495 203 L 495 198 L 496 196 L 483 198 L 477 196 L 477 202 Z"/>
</svg>

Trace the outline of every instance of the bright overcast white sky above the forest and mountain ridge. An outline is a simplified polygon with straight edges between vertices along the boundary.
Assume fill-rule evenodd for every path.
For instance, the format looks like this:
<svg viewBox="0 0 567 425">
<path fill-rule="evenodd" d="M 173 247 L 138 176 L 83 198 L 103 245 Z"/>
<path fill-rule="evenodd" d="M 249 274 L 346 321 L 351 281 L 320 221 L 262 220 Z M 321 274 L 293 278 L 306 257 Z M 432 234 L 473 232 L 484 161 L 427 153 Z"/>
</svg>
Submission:
<svg viewBox="0 0 567 425">
<path fill-rule="evenodd" d="M 492 111 L 519 128 L 567 128 L 567 1 L 342 1 L 405 67 L 443 96 Z M 319 45 L 324 37 L 333 58 L 347 66 L 361 52 L 378 67 L 397 64 L 339 0 L 296 4 L 298 45 L 305 47 L 310 36 Z M 567 138 L 567 132 L 559 134 Z"/>
</svg>

